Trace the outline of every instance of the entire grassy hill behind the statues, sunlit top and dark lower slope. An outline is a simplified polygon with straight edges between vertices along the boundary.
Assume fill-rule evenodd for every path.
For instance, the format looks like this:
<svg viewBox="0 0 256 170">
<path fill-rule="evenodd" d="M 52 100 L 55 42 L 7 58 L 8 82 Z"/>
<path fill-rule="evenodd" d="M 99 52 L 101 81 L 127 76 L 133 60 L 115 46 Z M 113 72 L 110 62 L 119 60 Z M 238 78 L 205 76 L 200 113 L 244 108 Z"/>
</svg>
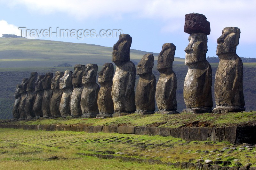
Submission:
<svg viewBox="0 0 256 170">
<path fill-rule="evenodd" d="M 145 51 L 131 50 L 131 60 L 139 62 Z M 156 53 L 153 74 L 156 81 L 159 72 L 156 70 Z M 98 64 L 99 70 L 106 62 L 111 62 L 112 48 L 91 44 L 68 43 L 59 41 L 31 40 L 22 38 L 0 38 L 0 119 L 12 118 L 14 91 L 22 78 L 29 78 L 30 72 L 38 74 L 46 72 L 73 70 L 73 67 L 53 67 L 61 63 Z M 214 100 L 214 80 L 218 63 L 212 66 L 212 96 Z M 115 68 L 114 68 L 115 69 Z M 184 58 L 175 57 L 173 70 L 177 76 L 177 105 L 178 111 L 184 109 L 183 85 L 188 67 Z M 138 82 L 136 76 L 136 83 Z M 256 110 L 256 63 L 244 63 L 244 98 L 246 110 Z M 215 107 L 215 105 L 214 105 Z"/>
</svg>

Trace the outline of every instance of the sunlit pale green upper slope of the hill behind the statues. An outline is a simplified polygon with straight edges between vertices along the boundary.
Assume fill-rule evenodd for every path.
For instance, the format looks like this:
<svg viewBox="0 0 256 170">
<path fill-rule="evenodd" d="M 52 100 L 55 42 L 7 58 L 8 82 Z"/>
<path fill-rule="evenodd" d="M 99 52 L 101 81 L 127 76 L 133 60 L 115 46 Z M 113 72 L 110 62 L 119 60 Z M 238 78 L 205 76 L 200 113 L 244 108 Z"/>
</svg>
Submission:
<svg viewBox="0 0 256 170">
<path fill-rule="evenodd" d="M 113 44 L 114 45 L 114 44 Z M 62 63 L 111 62 L 112 48 L 93 44 L 25 38 L 0 38 L 0 68 L 53 67 Z M 131 60 L 139 62 L 143 55 L 151 53 L 131 49 Z M 153 53 L 157 60 L 157 53 Z M 185 59 L 175 57 L 174 63 L 183 64 Z"/>
</svg>

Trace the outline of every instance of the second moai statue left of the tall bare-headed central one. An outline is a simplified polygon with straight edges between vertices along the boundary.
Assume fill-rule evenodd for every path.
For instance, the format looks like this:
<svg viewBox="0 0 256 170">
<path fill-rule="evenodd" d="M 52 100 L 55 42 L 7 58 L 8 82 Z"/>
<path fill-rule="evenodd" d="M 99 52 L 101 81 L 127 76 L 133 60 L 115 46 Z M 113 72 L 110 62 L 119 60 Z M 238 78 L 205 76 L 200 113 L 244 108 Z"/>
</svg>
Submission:
<svg viewBox="0 0 256 170">
<path fill-rule="evenodd" d="M 100 86 L 96 83 L 97 71 L 97 64 L 86 64 L 82 78 L 84 89 L 80 103 L 83 113 L 81 117 L 83 118 L 94 118 L 99 114 L 97 100 Z"/>
</svg>

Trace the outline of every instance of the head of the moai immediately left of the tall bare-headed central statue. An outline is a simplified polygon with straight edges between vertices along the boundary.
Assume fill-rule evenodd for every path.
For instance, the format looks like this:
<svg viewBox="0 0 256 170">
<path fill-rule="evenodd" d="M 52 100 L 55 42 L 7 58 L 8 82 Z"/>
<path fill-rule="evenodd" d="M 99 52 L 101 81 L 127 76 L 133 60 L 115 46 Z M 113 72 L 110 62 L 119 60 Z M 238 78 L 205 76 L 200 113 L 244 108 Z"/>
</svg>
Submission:
<svg viewBox="0 0 256 170">
<path fill-rule="evenodd" d="M 113 74 L 114 74 L 114 66 L 112 63 L 105 63 L 102 66 L 102 70 L 98 73 L 98 82 L 112 82 Z"/>
</svg>

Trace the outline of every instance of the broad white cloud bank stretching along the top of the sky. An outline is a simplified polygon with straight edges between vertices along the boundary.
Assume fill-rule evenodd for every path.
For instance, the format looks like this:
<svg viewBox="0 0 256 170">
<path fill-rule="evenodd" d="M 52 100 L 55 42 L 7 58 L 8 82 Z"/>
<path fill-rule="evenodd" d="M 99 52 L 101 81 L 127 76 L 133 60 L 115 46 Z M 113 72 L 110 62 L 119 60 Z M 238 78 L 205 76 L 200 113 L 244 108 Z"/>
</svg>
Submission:
<svg viewBox="0 0 256 170">
<path fill-rule="evenodd" d="M 226 26 L 241 29 L 240 42 L 256 42 L 256 0 L 0 0 L 9 6 L 25 6 L 28 11 L 51 15 L 63 12 L 77 20 L 88 18 L 122 19 L 126 14 L 134 18 L 155 19 L 162 32 L 183 31 L 185 14 L 198 12 L 211 23 L 209 39 L 216 41 Z M 117 21 L 118 22 L 118 21 Z"/>
</svg>

